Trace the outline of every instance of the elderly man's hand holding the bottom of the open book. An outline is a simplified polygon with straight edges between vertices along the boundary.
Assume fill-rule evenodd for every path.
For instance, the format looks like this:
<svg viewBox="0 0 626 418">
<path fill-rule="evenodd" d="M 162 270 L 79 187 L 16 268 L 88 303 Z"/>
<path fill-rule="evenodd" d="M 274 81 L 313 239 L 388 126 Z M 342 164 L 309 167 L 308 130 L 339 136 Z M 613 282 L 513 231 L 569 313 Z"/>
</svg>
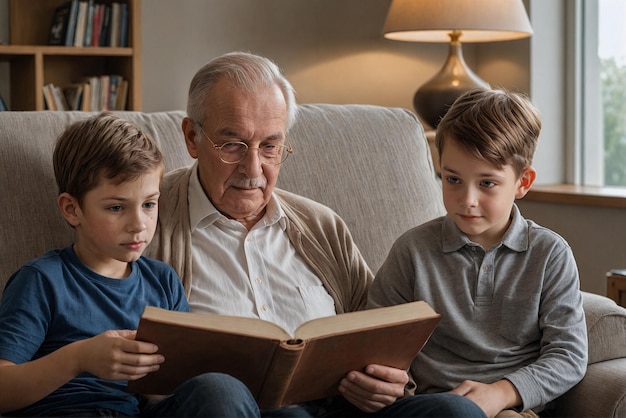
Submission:
<svg viewBox="0 0 626 418">
<path fill-rule="evenodd" d="M 365 373 L 352 371 L 341 379 L 339 392 L 361 411 L 372 413 L 403 396 L 408 382 L 406 370 L 370 364 Z"/>
</svg>

